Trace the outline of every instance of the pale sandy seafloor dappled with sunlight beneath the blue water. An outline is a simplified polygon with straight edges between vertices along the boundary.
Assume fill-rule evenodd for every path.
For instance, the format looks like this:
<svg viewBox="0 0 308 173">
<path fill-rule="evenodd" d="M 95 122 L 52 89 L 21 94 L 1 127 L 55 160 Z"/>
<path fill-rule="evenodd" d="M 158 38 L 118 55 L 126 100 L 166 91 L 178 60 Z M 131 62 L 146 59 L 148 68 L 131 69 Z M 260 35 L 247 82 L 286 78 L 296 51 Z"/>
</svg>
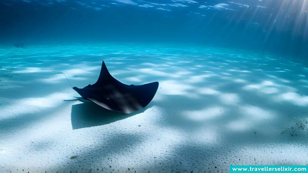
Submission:
<svg viewBox="0 0 308 173">
<path fill-rule="evenodd" d="M 72 86 L 102 60 L 126 84 L 158 81 L 132 114 Z M 307 165 L 308 64 L 270 54 L 168 46 L 0 49 L 0 172 L 229 172 Z"/>
</svg>

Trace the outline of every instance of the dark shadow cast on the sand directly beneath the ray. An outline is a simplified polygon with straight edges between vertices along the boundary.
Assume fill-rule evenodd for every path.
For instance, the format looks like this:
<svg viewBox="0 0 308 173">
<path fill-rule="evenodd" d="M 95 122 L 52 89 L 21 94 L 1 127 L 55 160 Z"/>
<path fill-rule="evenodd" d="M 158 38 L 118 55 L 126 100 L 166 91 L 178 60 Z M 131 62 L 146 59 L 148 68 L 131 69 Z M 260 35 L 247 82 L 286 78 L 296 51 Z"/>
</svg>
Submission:
<svg viewBox="0 0 308 173">
<path fill-rule="evenodd" d="M 115 112 L 107 110 L 99 105 L 84 101 L 80 104 L 72 105 L 71 110 L 71 123 L 73 130 L 84 127 L 101 126 L 122 119 L 126 119 L 133 115 L 144 112 L 146 109 L 142 109 L 130 114 L 121 112 Z"/>
</svg>

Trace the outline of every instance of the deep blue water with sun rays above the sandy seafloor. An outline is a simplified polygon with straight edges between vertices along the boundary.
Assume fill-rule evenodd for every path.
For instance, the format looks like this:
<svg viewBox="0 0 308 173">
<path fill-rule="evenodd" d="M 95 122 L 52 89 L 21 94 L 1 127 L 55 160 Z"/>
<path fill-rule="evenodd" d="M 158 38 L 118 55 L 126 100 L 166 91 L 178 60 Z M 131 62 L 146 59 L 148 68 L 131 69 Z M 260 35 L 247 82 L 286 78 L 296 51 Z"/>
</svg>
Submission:
<svg viewBox="0 0 308 173">
<path fill-rule="evenodd" d="M 174 43 L 305 58 L 305 0 L 1 0 L 0 42 Z"/>
</svg>

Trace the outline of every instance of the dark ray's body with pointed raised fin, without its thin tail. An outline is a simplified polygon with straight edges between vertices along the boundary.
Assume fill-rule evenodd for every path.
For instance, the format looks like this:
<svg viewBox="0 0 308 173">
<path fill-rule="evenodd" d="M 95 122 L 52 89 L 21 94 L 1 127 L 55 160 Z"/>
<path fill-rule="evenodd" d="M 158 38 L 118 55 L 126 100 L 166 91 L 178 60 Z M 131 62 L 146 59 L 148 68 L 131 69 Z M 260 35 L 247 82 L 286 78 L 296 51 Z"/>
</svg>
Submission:
<svg viewBox="0 0 308 173">
<path fill-rule="evenodd" d="M 132 113 L 146 107 L 158 89 L 158 82 L 143 85 L 126 85 L 111 76 L 105 62 L 97 82 L 84 88 L 73 87 L 85 100 L 92 101 L 111 111 Z"/>
</svg>

